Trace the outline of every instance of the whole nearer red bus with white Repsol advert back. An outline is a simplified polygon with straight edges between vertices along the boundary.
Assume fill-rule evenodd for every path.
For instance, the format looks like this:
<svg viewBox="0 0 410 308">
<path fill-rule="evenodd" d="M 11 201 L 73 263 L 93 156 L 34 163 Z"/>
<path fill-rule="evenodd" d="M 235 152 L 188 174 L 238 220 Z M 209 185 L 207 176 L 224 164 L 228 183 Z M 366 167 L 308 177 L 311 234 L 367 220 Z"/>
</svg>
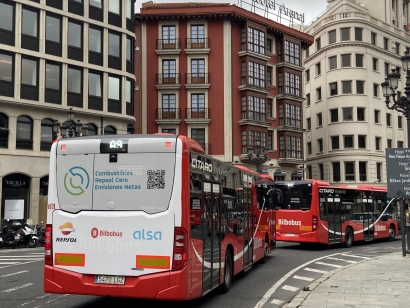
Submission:
<svg viewBox="0 0 410 308">
<path fill-rule="evenodd" d="M 275 248 L 267 180 L 185 136 L 60 139 L 49 178 L 47 293 L 190 300 Z"/>
</svg>

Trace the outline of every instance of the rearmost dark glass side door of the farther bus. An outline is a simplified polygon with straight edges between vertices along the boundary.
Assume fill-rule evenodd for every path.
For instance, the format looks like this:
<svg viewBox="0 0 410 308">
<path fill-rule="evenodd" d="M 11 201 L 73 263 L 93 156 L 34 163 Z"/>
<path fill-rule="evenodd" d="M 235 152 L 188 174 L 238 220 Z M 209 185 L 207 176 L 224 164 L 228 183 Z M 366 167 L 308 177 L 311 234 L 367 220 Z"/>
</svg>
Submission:
<svg viewBox="0 0 410 308">
<path fill-rule="evenodd" d="M 328 195 L 328 233 L 329 244 L 342 242 L 341 202 L 339 196 Z"/>
</svg>

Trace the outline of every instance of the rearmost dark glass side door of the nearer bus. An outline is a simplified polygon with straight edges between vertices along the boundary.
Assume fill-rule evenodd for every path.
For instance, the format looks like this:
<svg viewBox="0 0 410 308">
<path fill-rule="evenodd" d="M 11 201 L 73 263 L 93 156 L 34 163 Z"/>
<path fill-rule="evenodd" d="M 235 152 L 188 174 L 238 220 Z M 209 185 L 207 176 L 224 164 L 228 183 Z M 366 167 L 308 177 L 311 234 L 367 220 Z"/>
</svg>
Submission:
<svg viewBox="0 0 410 308">
<path fill-rule="evenodd" d="M 220 271 L 220 185 L 204 182 L 203 216 L 206 219 L 203 254 L 203 293 L 219 285 Z"/>
</svg>

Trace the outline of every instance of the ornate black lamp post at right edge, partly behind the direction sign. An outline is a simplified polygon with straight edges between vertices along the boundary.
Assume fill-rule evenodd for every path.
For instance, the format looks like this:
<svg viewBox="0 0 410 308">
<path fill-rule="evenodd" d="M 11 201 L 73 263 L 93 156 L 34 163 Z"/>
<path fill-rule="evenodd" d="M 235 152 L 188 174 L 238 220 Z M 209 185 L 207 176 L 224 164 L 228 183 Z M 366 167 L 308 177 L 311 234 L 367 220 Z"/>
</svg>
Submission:
<svg viewBox="0 0 410 308">
<path fill-rule="evenodd" d="M 404 87 L 404 94 L 406 96 L 401 96 L 396 98 L 396 89 L 399 85 L 400 72 L 399 70 L 393 69 L 390 74 L 387 75 L 386 80 L 381 84 L 383 90 L 383 96 L 385 97 L 386 107 L 390 110 L 396 110 L 402 113 L 406 117 L 407 124 L 407 147 L 410 146 L 410 55 L 409 51 L 406 50 L 404 56 L 401 57 L 403 64 L 403 69 L 406 72 L 406 86 Z M 392 97 L 393 102 L 391 103 L 390 97 Z M 402 252 L 403 256 L 406 256 L 406 239 L 405 239 L 405 218 L 404 218 L 404 199 L 401 198 L 401 238 L 402 238 Z M 409 236 L 409 235 L 407 235 Z M 410 248 L 410 247 L 409 247 Z"/>
</svg>

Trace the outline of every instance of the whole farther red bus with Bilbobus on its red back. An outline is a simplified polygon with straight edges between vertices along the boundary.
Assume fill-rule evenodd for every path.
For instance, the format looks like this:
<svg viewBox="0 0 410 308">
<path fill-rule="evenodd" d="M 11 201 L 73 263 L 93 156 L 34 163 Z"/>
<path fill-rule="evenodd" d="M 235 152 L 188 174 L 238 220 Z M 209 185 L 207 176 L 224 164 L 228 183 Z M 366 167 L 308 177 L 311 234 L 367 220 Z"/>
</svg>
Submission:
<svg viewBox="0 0 410 308">
<path fill-rule="evenodd" d="M 352 246 L 398 235 L 387 188 L 331 186 L 320 180 L 281 181 L 275 189 L 278 241 Z"/>
</svg>

